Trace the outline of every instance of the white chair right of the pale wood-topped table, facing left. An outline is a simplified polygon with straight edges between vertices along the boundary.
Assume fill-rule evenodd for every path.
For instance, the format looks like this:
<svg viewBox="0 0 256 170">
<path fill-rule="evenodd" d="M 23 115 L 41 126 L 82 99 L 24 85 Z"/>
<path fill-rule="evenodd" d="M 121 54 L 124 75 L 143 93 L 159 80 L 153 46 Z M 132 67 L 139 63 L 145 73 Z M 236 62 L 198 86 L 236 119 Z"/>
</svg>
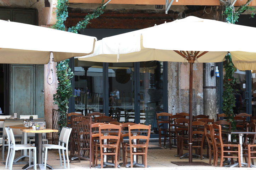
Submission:
<svg viewBox="0 0 256 170">
<path fill-rule="evenodd" d="M 45 169 L 46 169 L 46 160 L 47 160 L 48 149 L 59 149 L 60 166 L 62 166 L 62 158 L 61 158 L 61 153 L 60 153 L 60 150 L 62 149 L 64 168 L 66 168 L 66 160 L 65 160 L 65 153 L 64 153 L 64 150 L 66 150 L 68 169 L 70 169 L 69 168 L 69 156 L 68 156 L 68 143 L 69 143 L 69 136 L 70 136 L 71 131 L 72 131 L 72 128 L 62 127 L 62 130 L 60 132 L 60 137 L 59 137 L 59 145 L 51 145 L 51 144 L 43 145 L 43 149 L 45 149 L 45 151 L 44 151 L 45 152 Z M 61 143 L 62 143 L 62 145 L 61 145 Z M 66 146 L 64 146 L 65 144 L 66 144 Z"/>
</svg>

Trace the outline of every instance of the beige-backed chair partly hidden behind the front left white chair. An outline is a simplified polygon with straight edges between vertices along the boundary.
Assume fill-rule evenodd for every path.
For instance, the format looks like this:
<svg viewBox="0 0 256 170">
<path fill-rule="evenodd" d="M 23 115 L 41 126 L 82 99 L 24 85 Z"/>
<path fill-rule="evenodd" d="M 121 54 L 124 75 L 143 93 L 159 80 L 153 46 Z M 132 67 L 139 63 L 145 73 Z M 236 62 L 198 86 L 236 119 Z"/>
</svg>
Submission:
<svg viewBox="0 0 256 170">
<path fill-rule="evenodd" d="M 24 122 L 4 122 L 3 125 L 3 139 L 2 139 L 2 158 L 4 160 L 5 147 L 8 146 L 7 133 L 5 127 L 24 124 Z M 20 129 L 13 129 L 13 133 L 16 138 L 22 138 L 22 131 Z M 22 139 L 16 139 L 16 141 L 22 142 Z"/>
</svg>

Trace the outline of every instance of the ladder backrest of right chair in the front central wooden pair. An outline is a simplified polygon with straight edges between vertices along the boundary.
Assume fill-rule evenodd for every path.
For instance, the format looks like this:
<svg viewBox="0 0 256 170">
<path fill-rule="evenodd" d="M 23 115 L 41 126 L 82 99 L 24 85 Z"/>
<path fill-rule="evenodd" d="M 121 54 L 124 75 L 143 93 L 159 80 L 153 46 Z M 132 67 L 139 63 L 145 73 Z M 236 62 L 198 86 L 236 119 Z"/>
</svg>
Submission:
<svg viewBox="0 0 256 170">
<path fill-rule="evenodd" d="M 132 136 L 131 134 L 133 133 L 131 130 L 135 130 L 135 129 L 139 129 L 140 131 L 147 131 L 147 136 L 144 135 L 136 135 L 136 136 Z M 150 137 L 150 130 L 151 130 L 151 125 L 142 125 L 142 124 L 137 124 L 137 125 L 128 125 L 128 130 L 129 130 L 129 143 L 130 146 L 132 146 L 132 140 L 133 139 L 137 139 L 137 140 L 146 140 L 146 148 L 149 145 L 149 137 Z"/>
</svg>

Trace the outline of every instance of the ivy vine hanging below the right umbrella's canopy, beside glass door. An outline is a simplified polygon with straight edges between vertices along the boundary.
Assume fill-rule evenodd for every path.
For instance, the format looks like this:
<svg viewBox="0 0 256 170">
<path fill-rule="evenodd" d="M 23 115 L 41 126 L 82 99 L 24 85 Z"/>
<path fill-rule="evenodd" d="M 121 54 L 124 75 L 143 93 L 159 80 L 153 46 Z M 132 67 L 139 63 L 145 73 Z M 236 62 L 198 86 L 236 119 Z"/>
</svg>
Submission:
<svg viewBox="0 0 256 170">
<path fill-rule="evenodd" d="M 234 92 L 234 85 L 237 83 L 237 78 L 234 78 L 234 65 L 232 63 L 231 55 L 228 53 L 226 55 L 227 63 L 224 65 L 225 68 L 225 75 L 224 75 L 224 82 L 223 83 L 223 107 L 222 111 L 225 114 L 227 121 L 231 122 L 232 128 L 235 129 L 236 122 L 234 121 L 234 112 L 233 107 L 235 106 L 235 97 L 233 95 Z"/>
</svg>

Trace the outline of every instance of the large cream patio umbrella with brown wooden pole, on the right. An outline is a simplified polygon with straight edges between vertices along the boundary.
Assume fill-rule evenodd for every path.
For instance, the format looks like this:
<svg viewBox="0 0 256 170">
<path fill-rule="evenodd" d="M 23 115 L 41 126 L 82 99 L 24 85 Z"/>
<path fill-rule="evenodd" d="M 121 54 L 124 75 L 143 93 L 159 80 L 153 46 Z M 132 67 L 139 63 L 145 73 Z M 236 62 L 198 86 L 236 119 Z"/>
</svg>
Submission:
<svg viewBox="0 0 256 170">
<path fill-rule="evenodd" d="M 229 51 L 239 70 L 256 70 L 255 31 L 254 27 L 190 16 L 103 38 L 95 43 L 93 54 L 78 59 L 113 63 L 153 60 L 190 63 L 189 114 L 192 122 L 193 63 L 222 62 Z M 225 32 L 230 36 L 223 38 Z M 240 36 L 239 32 L 252 34 Z M 244 43 L 239 43 L 242 40 Z M 192 129 L 192 124 L 189 129 Z M 189 143 L 192 143 L 192 131 L 188 133 Z M 189 146 L 189 163 L 192 164 L 192 145 Z"/>
</svg>

